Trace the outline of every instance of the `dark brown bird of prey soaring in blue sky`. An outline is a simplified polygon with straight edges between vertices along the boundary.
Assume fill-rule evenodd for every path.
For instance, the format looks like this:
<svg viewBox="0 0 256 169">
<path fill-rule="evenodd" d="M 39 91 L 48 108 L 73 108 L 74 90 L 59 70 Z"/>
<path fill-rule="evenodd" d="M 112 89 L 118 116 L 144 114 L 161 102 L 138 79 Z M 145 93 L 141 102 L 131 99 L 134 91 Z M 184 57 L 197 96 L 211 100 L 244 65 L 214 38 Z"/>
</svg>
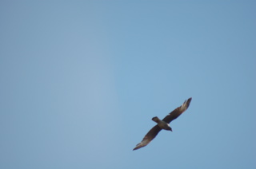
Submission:
<svg viewBox="0 0 256 169">
<path fill-rule="evenodd" d="M 143 138 L 142 142 L 138 143 L 136 147 L 134 147 L 134 150 L 145 147 L 147 144 L 150 143 L 150 141 L 154 140 L 154 137 L 157 136 L 158 132 L 160 132 L 162 129 L 172 132 L 172 129 L 169 125 L 170 122 L 180 116 L 182 112 L 185 112 L 187 108 L 189 108 L 191 100 L 192 97 L 190 97 L 188 100 L 185 100 L 180 107 L 174 109 L 173 112 L 170 112 L 163 120 L 158 119 L 157 116 L 153 117 L 152 120 L 156 122 L 157 125 L 151 128 L 150 132 L 146 133 L 146 136 Z"/>
</svg>

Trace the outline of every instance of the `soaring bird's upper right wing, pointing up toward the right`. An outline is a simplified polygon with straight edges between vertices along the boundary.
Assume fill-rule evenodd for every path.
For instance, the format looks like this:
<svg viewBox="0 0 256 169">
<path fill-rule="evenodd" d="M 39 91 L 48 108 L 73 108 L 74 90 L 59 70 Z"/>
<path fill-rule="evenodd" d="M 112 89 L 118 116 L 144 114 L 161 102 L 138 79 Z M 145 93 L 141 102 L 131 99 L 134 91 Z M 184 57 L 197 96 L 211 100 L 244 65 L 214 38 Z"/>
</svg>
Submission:
<svg viewBox="0 0 256 169">
<path fill-rule="evenodd" d="M 176 119 L 178 116 L 182 114 L 182 112 L 185 112 L 187 108 L 190 106 L 190 101 L 192 100 L 192 97 L 190 97 L 188 100 L 185 100 L 184 103 L 176 108 L 173 112 L 170 112 L 164 119 L 166 123 L 170 124 L 170 122 L 174 119 Z"/>
</svg>

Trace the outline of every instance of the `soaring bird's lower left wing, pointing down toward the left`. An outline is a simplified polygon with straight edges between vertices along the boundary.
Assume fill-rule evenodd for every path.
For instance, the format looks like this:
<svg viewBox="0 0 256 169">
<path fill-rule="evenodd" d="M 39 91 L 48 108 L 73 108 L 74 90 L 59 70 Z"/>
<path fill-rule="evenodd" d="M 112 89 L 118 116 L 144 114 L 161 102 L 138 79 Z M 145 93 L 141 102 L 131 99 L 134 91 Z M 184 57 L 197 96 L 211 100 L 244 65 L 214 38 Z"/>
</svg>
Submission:
<svg viewBox="0 0 256 169">
<path fill-rule="evenodd" d="M 162 128 L 160 128 L 157 125 L 155 125 L 153 128 L 151 128 L 150 132 L 146 133 L 146 136 L 144 136 L 141 143 L 138 143 L 136 147 L 134 147 L 134 150 L 137 150 L 138 148 L 146 146 L 148 143 L 150 143 L 151 140 L 154 140 L 154 137 L 158 135 L 158 132 L 160 132 Z"/>
</svg>

